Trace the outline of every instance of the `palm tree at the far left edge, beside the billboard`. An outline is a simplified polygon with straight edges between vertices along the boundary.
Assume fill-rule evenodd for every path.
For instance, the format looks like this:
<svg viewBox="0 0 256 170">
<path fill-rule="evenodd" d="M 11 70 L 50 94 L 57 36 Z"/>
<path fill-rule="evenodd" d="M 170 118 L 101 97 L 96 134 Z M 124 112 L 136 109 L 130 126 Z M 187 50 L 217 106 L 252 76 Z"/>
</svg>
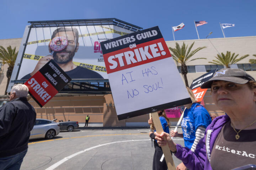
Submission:
<svg viewBox="0 0 256 170">
<path fill-rule="evenodd" d="M 7 85 L 5 89 L 5 95 L 7 94 L 7 88 L 11 79 L 11 74 L 14 68 L 17 55 L 18 55 L 18 51 L 16 52 L 16 47 L 12 49 L 11 46 L 9 46 L 7 47 L 7 50 L 6 50 L 3 46 L 0 46 L 0 60 L 2 60 L 2 64 L 7 64 L 9 66 L 6 72 Z"/>
</svg>

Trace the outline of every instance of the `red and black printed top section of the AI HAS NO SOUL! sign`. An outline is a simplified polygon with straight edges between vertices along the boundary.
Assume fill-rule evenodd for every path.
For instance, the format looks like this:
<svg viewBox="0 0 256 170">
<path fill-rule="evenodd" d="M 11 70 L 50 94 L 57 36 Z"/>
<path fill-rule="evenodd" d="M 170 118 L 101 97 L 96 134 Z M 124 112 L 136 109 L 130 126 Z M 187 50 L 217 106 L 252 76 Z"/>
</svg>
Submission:
<svg viewBox="0 0 256 170">
<path fill-rule="evenodd" d="M 100 44 L 107 74 L 171 57 L 158 26 Z"/>
</svg>

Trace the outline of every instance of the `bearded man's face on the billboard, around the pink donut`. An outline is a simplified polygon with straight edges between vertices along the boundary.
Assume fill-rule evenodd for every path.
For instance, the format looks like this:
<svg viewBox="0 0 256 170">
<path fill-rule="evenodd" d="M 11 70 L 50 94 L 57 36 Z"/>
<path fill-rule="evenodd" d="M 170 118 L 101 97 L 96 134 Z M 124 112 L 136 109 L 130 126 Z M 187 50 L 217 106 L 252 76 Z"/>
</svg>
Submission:
<svg viewBox="0 0 256 170">
<path fill-rule="evenodd" d="M 53 53 L 53 60 L 59 64 L 64 64 L 71 61 L 78 51 L 79 43 L 76 42 L 75 34 L 72 31 L 59 32 L 55 37 L 64 36 L 68 40 L 68 45 L 62 51 L 56 51 Z M 49 49 L 50 50 L 50 49 Z"/>
</svg>

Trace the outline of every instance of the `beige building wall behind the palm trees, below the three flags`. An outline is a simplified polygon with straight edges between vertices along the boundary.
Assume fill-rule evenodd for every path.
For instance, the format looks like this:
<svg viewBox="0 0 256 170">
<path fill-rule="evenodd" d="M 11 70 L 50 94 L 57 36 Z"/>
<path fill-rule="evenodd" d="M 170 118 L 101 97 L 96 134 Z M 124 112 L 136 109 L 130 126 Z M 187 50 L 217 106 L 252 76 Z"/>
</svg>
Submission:
<svg viewBox="0 0 256 170">
<path fill-rule="evenodd" d="M 203 46 L 207 47 L 206 49 L 198 51 L 193 57 L 191 57 L 191 59 L 203 57 L 203 58 L 207 58 L 206 60 L 204 59 L 194 60 L 194 61 L 188 62 L 187 66 L 213 65 L 208 62 L 214 60 L 218 52 L 219 53 L 223 52 L 224 54 L 226 54 L 226 51 L 231 51 L 231 53 L 239 54 L 240 57 L 246 54 L 250 55 L 249 57 L 239 61 L 237 64 L 249 63 L 250 59 L 256 59 L 256 57 L 252 56 L 253 54 L 256 54 L 256 49 L 255 49 L 256 36 L 166 41 L 166 44 L 168 47 L 175 48 L 176 42 L 180 46 L 183 44 L 183 42 L 185 42 L 185 44 L 188 45 L 188 47 L 193 42 L 195 42 L 192 50 L 198 47 L 203 47 Z M 206 72 L 188 73 L 187 74 L 188 84 L 190 85 L 194 79 L 196 79 L 197 77 L 205 73 Z M 256 71 L 249 71 L 248 74 L 256 78 Z"/>
</svg>

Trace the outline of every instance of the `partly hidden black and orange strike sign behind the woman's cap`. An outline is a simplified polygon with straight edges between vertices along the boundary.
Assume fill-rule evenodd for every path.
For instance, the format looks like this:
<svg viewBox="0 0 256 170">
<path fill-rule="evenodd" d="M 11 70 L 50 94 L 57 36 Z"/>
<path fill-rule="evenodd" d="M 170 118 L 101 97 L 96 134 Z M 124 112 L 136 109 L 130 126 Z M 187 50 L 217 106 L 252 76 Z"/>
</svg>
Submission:
<svg viewBox="0 0 256 170">
<path fill-rule="evenodd" d="M 212 78 L 215 72 L 216 70 L 212 70 L 193 80 L 190 89 L 193 91 L 195 97 L 197 98 L 197 102 L 201 102 L 203 100 L 203 97 L 207 91 L 207 89 L 201 89 L 201 85 Z"/>
</svg>

